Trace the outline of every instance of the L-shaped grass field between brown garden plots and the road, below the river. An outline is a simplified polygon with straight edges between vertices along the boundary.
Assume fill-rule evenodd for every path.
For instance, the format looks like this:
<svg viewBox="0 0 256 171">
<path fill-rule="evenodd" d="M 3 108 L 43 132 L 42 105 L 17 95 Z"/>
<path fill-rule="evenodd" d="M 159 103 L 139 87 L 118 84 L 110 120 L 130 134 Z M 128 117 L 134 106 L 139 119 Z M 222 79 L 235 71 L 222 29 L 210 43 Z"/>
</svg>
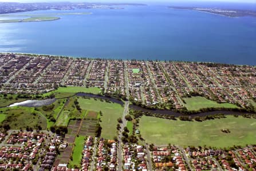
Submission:
<svg viewBox="0 0 256 171">
<path fill-rule="evenodd" d="M 117 103 L 107 103 L 105 101 L 94 99 L 78 99 L 82 109 L 89 111 L 103 112 L 100 125 L 103 128 L 101 137 L 104 139 L 113 139 L 116 136 L 117 119 L 123 115 L 124 108 Z"/>
</svg>

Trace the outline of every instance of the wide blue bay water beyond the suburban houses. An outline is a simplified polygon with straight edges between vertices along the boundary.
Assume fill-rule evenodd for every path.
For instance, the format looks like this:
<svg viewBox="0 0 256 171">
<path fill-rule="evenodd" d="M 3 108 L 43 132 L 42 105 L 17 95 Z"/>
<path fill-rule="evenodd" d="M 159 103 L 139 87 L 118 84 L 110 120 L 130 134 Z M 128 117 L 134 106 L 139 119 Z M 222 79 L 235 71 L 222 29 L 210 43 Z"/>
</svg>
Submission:
<svg viewBox="0 0 256 171">
<path fill-rule="evenodd" d="M 0 52 L 256 65 L 253 17 L 229 18 L 163 5 L 29 13 L 82 12 L 92 14 L 0 23 Z"/>
</svg>

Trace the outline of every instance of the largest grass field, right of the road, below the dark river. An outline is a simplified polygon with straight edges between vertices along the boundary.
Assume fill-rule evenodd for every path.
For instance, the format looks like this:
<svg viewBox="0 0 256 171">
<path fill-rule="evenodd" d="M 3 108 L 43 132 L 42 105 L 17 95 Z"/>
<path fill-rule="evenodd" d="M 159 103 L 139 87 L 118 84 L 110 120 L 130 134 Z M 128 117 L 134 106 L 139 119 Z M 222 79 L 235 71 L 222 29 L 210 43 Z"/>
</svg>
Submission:
<svg viewBox="0 0 256 171">
<path fill-rule="evenodd" d="M 228 147 L 255 144 L 256 119 L 227 116 L 225 119 L 197 121 L 167 120 L 143 116 L 140 119 L 141 136 L 147 143 L 168 143 L 188 146 L 207 145 Z M 223 133 L 220 129 L 229 129 Z"/>
</svg>

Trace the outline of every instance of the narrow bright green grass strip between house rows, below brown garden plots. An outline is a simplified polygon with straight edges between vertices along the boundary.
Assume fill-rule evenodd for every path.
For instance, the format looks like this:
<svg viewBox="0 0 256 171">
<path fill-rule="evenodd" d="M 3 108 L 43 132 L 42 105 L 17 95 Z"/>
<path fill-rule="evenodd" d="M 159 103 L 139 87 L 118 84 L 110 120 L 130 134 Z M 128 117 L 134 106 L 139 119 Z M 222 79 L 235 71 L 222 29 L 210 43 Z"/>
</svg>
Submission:
<svg viewBox="0 0 256 171">
<path fill-rule="evenodd" d="M 85 136 L 79 136 L 76 137 L 74 140 L 74 149 L 73 149 L 73 154 L 72 158 L 73 160 L 69 161 L 69 165 L 73 168 L 74 165 L 80 166 L 81 165 L 81 159 L 82 159 L 82 150 L 84 149 L 84 140 Z"/>
</svg>

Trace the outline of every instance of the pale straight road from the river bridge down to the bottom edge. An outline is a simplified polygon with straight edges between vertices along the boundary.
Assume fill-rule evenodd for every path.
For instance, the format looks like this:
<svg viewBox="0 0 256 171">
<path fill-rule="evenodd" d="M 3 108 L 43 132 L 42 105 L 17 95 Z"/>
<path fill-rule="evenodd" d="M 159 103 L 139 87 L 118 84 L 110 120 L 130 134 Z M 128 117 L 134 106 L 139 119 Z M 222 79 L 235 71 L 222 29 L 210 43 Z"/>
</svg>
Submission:
<svg viewBox="0 0 256 171">
<path fill-rule="evenodd" d="M 126 127 L 127 124 L 127 120 L 125 119 L 125 116 L 127 115 L 127 113 L 129 112 L 129 101 L 125 101 L 124 103 L 124 112 L 123 112 L 123 123 L 121 125 L 121 129 L 119 130 L 119 135 L 117 137 L 118 139 L 118 146 L 117 146 L 117 158 L 118 158 L 118 165 L 117 165 L 117 170 L 122 170 L 123 168 L 123 148 L 122 148 L 122 132 L 124 131 L 124 127 Z"/>
</svg>

